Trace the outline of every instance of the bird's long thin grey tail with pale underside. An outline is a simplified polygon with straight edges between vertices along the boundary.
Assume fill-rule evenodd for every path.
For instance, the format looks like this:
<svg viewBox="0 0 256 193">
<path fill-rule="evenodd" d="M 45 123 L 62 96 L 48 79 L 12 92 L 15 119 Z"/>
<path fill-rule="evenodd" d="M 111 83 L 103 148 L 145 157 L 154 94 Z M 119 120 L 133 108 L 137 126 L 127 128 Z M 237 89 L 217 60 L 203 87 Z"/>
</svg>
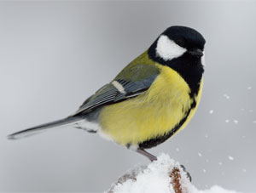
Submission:
<svg viewBox="0 0 256 193">
<path fill-rule="evenodd" d="M 63 126 L 67 126 L 70 124 L 72 125 L 75 122 L 79 122 L 82 119 L 83 118 L 79 117 L 79 116 L 69 116 L 67 118 L 57 120 L 55 122 L 44 123 L 42 125 L 38 125 L 33 128 L 27 128 L 25 130 L 22 130 L 22 131 L 19 131 L 16 133 L 12 133 L 12 134 L 8 135 L 8 139 L 21 139 L 21 138 L 28 137 L 28 136 L 31 136 L 34 134 L 42 133 L 49 128 L 58 128 L 58 127 L 63 127 Z"/>
</svg>

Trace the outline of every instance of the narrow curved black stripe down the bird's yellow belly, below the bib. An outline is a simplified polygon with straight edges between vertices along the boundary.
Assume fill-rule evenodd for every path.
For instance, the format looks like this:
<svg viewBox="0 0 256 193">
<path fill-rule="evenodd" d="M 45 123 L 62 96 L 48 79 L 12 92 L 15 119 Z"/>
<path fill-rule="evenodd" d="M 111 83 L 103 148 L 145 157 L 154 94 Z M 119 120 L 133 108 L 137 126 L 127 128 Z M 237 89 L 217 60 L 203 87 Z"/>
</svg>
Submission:
<svg viewBox="0 0 256 193">
<path fill-rule="evenodd" d="M 139 148 L 141 148 L 141 149 L 152 148 L 156 145 L 160 145 L 161 143 L 165 142 L 166 139 L 171 138 L 172 135 L 174 133 L 176 133 L 178 131 L 178 129 L 183 125 L 183 123 L 186 122 L 186 120 L 190 114 L 190 111 L 195 108 L 195 105 L 196 105 L 196 102 L 194 99 L 193 103 L 191 104 L 191 106 L 189 108 L 189 111 L 187 111 L 187 113 L 186 113 L 186 116 L 184 116 L 183 119 L 175 126 L 175 128 L 172 128 L 172 130 L 170 132 L 166 133 L 165 135 L 156 137 L 154 139 L 148 139 L 146 141 L 143 141 L 141 144 L 139 144 Z"/>
</svg>

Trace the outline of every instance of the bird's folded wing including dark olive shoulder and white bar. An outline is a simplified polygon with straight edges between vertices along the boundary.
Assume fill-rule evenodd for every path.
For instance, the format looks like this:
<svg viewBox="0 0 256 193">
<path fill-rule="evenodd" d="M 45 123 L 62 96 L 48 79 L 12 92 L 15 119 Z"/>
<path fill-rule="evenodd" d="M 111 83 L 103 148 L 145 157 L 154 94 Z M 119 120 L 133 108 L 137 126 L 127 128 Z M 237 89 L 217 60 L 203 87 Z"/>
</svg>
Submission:
<svg viewBox="0 0 256 193">
<path fill-rule="evenodd" d="M 143 94 L 158 75 L 159 70 L 155 65 L 128 65 L 113 82 L 106 84 L 86 99 L 72 116 Z"/>
</svg>

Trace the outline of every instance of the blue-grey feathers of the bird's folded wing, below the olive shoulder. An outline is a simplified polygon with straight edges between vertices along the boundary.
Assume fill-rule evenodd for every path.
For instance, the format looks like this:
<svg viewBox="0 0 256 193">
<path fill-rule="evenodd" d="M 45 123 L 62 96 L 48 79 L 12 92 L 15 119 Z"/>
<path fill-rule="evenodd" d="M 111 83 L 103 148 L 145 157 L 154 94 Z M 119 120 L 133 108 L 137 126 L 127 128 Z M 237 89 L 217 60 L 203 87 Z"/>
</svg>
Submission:
<svg viewBox="0 0 256 193">
<path fill-rule="evenodd" d="M 139 94 L 143 94 L 154 82 L 154 75 L 144 79 L 143 81 L 130 82 L 125 80 L 116 80 L 124 88 L 125 93 L 119 92 L 119 89 L 114 87 L 112 83 L 106 84 L 104 87 L 99 89 L 96 94 L 92 95 L 89 99 L 84 101 L 84 104 L 79 107 L 72 116 L 84 114 L 88 111 L 92 111 L 96 107 L 102 105 L 108 105 L 135 97 Z"/>
</svg>

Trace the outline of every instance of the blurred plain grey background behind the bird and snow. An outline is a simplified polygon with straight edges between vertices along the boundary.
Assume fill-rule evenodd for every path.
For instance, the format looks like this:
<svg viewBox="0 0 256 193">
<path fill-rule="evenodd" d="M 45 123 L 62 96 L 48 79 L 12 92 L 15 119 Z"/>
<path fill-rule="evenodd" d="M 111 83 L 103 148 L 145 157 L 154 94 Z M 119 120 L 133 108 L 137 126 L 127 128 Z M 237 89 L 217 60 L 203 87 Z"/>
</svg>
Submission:
<svg viewBox="0 0 256 193">
<path fill-rule="evenodd" d="M 207 39 L 201 105 L 186 129 L 150 152 L 183 163 L 200 189 L 256 192 L 255 9 L 232 1 L 1 2 L 0 191 L 108 190 L 147 164 L 81 130 L 6 135 L 73 113 L 166 27 L 183 25 Z"/>
</svg>

